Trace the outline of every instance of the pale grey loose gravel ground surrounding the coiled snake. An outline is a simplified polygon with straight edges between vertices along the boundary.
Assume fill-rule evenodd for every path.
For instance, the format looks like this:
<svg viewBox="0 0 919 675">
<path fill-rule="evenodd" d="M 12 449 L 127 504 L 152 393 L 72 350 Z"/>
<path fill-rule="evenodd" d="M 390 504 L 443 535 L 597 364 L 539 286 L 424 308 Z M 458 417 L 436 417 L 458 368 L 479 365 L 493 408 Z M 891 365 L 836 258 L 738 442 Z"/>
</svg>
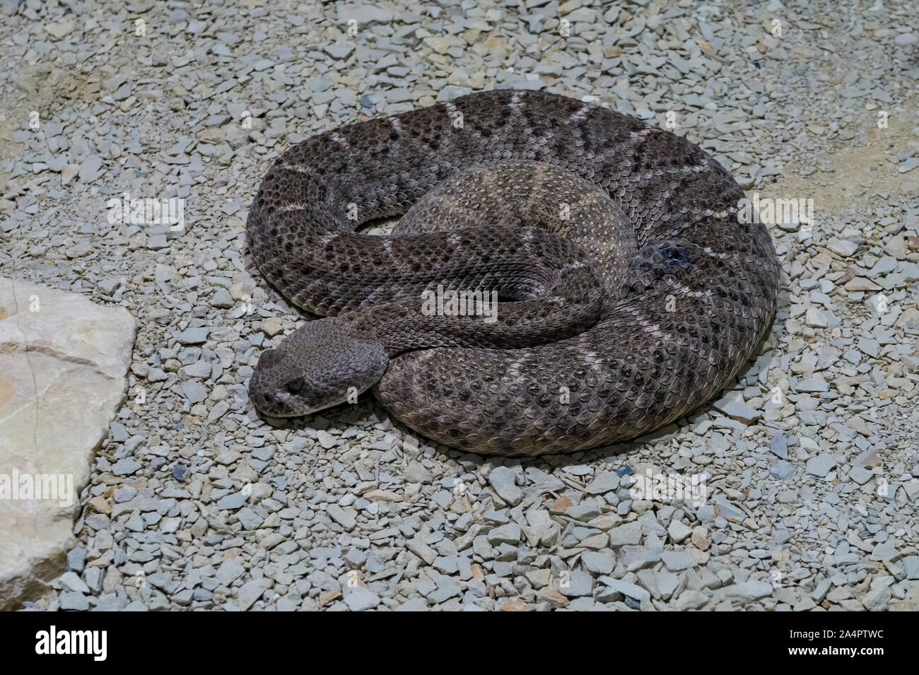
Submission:
<svg viewBox="0 0 919 675">
<path fill-rule="evenodd" d="M 69 570 L 27 606 L 919 608 L 919 30 L 908 0 L 846 5 L 0 1 L 4 274 L 140 324 Z M 751 197 L 812 199 L 769 226 L 761 355 L 713 405 L 571 456 L 464 455 L 372 399 L 260 420 L 252 366 L 301 321 L 242 251 L 268 164 L 508 86 L 670 125 Z M 110 223 L 125 192 L 185 198 L 185 230 Z M 693 479 L 704 499 L 675 499 Z"/>
</svg>

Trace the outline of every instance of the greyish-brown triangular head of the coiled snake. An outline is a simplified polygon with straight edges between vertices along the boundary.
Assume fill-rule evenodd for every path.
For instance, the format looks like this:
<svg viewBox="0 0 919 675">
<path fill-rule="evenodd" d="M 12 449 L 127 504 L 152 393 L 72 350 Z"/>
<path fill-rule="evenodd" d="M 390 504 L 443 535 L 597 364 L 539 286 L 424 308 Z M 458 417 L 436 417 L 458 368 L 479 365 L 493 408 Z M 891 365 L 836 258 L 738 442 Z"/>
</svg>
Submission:
<svg viewBox="0 0 919 675">
<path fill-rule="evenodd" d="M 388 364 L 381 343 L 355 336 L 335 318 L 310 321 L 261 354 L 249 395 L 270 417 L 300 417 L 357 401 Z"/>
</svg>

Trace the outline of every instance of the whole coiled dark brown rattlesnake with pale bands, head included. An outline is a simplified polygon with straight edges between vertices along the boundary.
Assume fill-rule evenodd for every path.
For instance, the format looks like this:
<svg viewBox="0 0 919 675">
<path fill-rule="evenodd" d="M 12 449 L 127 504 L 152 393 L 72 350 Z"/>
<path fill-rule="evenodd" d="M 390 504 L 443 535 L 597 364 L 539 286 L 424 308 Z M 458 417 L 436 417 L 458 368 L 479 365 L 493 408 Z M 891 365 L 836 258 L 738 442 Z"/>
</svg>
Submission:
<svg viewBox="0 0 919 675">
<path fill-rule="evenodd" d="M 246 231 L 263 276 L 327 318 L 262 354 L 252 398 L 289 417 L 370 388 L 481 454 L 650 432 L 716 394 L 774 315 L 776 255 L 742 198 L 689 141 L 542 92 L 314 136 L 272 165 Z"/>
</svg>

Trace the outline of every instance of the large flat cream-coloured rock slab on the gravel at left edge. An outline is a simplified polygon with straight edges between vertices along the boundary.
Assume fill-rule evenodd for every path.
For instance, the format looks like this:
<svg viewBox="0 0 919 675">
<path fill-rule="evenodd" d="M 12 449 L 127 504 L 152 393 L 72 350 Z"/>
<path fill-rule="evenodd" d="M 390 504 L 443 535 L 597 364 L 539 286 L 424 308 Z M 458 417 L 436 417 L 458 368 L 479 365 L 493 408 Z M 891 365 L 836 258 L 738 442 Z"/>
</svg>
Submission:
<svg viewBox="0 0 919 675">
<path fill-rule="evenodd" d="M 126 309 L 0 276 L 0 610 L 63 571 L 133 343 Z"/>
</svg>

